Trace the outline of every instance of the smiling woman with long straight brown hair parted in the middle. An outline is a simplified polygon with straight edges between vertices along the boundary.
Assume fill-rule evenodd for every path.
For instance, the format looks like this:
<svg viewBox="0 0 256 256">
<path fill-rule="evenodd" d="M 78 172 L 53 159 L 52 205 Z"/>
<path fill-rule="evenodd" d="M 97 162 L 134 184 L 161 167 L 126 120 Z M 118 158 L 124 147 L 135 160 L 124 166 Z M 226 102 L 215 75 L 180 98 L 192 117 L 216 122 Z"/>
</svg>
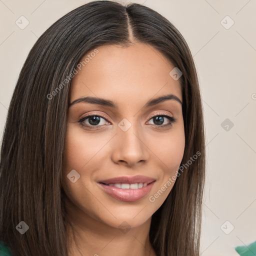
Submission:
<svg viewBox="0 0 256 256">
<path fill-rule="evenodd" d="M 84 4 L 36 41 L 10 102 L 0 240 L 12 255 L 199 255 L 204 127 L 178 30 Z"/>
</svg>

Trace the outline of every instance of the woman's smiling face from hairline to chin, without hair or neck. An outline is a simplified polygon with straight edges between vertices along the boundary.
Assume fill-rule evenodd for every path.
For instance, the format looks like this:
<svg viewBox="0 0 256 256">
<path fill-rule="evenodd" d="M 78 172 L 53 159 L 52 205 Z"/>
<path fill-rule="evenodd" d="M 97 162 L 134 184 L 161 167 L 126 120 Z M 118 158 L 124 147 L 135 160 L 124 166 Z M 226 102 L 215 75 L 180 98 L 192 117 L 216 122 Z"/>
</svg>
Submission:
<svg viewBox="0 0 256 256">
<path fill-rule="evenodd" d="M 168 94 L 182 101 L 179 80 L 167 58 L 143 43 L 100 46 L 86 56 L 70 91 L 70 102 L 81 100 L 68 109 L 67 211 L 84 223 L 135 227 L 163 203 L 183 156 L 181 103 L 152 101 Z"/>
</svg>

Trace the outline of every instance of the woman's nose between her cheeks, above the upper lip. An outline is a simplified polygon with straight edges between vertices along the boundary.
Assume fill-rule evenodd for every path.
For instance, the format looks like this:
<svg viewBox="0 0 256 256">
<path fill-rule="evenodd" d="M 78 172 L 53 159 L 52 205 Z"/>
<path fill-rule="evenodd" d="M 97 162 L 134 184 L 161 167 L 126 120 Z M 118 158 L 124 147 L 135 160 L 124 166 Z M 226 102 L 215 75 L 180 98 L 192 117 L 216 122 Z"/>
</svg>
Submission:
<svg viewBox="0 0 256 256">
<path fill-rule="evenodd" d="M 146 162 L 149 158 L 145 135 L 135 125 L 123 131 L 117 128 L 117 134 L 112 140 L 112 161 L 126 166 L 134 166 Z"/>
</svg>

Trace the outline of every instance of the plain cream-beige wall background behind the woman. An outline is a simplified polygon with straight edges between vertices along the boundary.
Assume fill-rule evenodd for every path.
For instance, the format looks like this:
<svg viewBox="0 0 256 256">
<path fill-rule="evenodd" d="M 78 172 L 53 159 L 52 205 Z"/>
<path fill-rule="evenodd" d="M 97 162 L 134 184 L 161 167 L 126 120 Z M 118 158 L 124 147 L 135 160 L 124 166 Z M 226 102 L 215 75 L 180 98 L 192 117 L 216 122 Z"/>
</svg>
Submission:
<svg viewBox="0 0 256 256">
<path fill-rule="evenodd" d="M 28 51 L 54 21 L 86 2 L 0 0 L 0 136 Z M 237 256 L 235 246 L 256 240 L 256 1 L 131 2 L 165 16 L 192 52 L 207 144 L 201 255 Z M 15 23 L 20 16 L 29 21 L 24 29 Z"/>
</svg>

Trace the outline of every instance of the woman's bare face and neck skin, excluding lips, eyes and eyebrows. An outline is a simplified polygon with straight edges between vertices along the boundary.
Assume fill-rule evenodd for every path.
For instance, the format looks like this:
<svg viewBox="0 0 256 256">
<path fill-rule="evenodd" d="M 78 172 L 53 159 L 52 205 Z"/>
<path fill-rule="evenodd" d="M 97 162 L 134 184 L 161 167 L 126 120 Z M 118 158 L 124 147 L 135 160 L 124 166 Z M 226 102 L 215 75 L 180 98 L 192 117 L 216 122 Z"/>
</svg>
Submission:
<svg viewBox="0 0 256 256">
<path fill-rule="evenodd" d="M 153 202 L 149 196 L 164 184 L 166 187 L 169 178 L 177 174 L 185 137 L 178 101 L 144 105 L 170 93 L 182 101 L 181 87 L 169 75 L 174 66 L 152 46 L 134 42 L 128 47 L 104 45 L 97 49 L 98 53 L 72 79 L 69 102 L 94 96 L 112 100 L 118 108 L 79 102 L 68 109 L 62 185 L 76 240 L 68 229 L 72 237 L 69 255 L 156 255 L 149 243 L 151 216 L 175 180 Z M 150 114 L 162 113 L 176 121 L 163 127 L 169 123 L 166 117 L 160 125 L 150 118 Z M 85 114 L 107 118 L 100 118 L 96 124 L 99 129 L 88 129 L 78 122 Z M 131 123 L 127 131 L 118 127 L 123 118 Z M 93 126 L 88 118 L 84 123 Z M 74 183 L 66 176 L 72 169 L 80 174 Z M 97 183 L 138 174 L 156 181 L 145 197 L 134 202 L 111 197 Z M 130 229 L 124 233 L 119 228 L 121 223 Z"/>
</svg>

